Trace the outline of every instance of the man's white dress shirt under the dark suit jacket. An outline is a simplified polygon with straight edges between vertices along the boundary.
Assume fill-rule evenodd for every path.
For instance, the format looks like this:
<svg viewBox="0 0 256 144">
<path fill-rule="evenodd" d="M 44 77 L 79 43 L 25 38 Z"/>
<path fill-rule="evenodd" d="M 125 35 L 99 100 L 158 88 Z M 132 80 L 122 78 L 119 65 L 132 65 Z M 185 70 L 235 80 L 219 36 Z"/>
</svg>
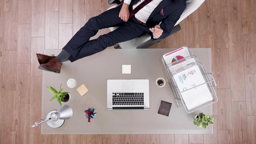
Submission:
<svg viewBox="0 0 256 144">
<path fill-rule="evenodd" d="M 133 5 L 133 9 L 135 9 L 135 7 L 140 5 L 143 1 L 144 0 L 140 0 L 137 4 Z M 150 14 L 159 5 L 159 3 L 161 1 L 162 0 L 152 0 L 151 2 L 149 2 L 149 4 L 147 4 L 144 7 L 142 7 L 142 9 L 140 9 L 139 12 L 137 12 L 135 14 L 135 18 L 139 19 L 143 23 L 146 23 L 147 19 L 149 19 Z M 130 5 L 131 0 L 124 0 L 123 2 L 127 3 L 128 5 Z"/>
</svg>

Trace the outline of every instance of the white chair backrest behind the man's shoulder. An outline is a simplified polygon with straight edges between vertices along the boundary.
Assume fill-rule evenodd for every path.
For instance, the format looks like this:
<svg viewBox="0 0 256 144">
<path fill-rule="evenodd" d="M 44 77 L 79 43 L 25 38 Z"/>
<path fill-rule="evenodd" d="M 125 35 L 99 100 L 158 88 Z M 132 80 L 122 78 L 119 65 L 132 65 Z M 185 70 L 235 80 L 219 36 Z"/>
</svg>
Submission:
<svg viewBox="0 0 256 144">
<path fill-rule="evenodd" d="M 204 1 L 205 0 L 186 0 L 187 7 L 182 13 L 182 15 L 180 16 L 175 26 L 179 24 L 181 21 L 183 21 L 184 19 L 186 19 L 186 17 L 188 17 L 190 14 L 195 12 L 195 10 L 198 9 L 198 7 L 200 7 L 200 5 L 202 5 Z"/>
</svg>

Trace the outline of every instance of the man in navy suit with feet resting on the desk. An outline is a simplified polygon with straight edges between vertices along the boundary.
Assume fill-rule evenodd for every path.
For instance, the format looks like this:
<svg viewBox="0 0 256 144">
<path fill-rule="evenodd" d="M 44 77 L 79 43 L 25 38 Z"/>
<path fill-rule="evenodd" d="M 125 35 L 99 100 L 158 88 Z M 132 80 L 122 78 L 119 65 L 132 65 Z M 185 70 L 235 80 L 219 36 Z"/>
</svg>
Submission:
<svg viewBox="0 0 256 144">
<path fill-rule="evenodd" d="M 152 39 L 163 39 L 170 35 L 185 8 L 186 0 L 123 0 L 118 7 L 89 19 L 58 56 L 37 53 L 39 68 L 60 73 L 64 61 L 73 62 L 145 33 Z M 89 40 L 98 30 L 116 26 L 119 28 Z"/>
</svg>

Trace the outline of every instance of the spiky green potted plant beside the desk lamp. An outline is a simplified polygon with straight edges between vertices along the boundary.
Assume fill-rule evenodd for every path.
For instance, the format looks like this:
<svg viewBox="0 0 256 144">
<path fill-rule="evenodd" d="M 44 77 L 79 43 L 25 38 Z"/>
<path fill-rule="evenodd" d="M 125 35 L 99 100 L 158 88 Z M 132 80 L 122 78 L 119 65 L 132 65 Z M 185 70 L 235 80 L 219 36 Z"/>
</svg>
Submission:
<svg viewBox="0 0 256 144">
<path fill-rule="evenodd" d="M 51 98 L 51 100 L 57 99 L 58 103 L 62 106 L 62 103 L 66 103 L 70 100 L 70 94 L 69 92 L 62 92 L 63 88 L 60 88 L 59 91 L 57 91 L 55 88 L 51 86 L 46 86 L 47 89 L 54 94 L 54 96 Z M 50 101 L 51 101 L 50 100 Z"/>
</svg>

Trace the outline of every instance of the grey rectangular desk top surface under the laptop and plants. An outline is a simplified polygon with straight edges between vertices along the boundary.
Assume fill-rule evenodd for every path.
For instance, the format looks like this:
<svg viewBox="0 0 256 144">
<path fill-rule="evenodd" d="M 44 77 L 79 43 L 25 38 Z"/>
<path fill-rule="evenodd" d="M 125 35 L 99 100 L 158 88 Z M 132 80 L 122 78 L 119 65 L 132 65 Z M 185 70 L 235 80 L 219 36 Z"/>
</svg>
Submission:
<svg viewBox="0 0 256 144">
<path fill-rule="evenodd" d="M 212 105 L 187 114 L 184 107 L 177 107 L 168 84 L 156 86 L 156 79 L 165 78 L 166 72 L 161 55 L 173 49 L 106 49 L 73 63 L 63 63 L 61 74 L 43 72 L 42 78 L 42 118 L 60 108 L 57 100 L 46 86 L 59 88 L 71 94 L 67 102 L 73 110 L 72 118 L 65 120 L 60 128 L 50 128 L 42 124 L 42 134 L 210 134 L 212 125 L 206 129 L 193 125 L 193 116 L 199 112 L 212 114 Z M 61 50 L 44 50 L 45 54 L 58 54 Z M 211 72 L 211 49 L 193 49 L 193 53 Z M 122 65 L 131 65 L 131 74 L 122 74 Z M 67 87 L 67 79 L 77 81 L 75 88 Z M 149 79 L 149 107 L 151 110 L 106 111 L 108 79 Z M 81 96 L 76 88 L 84 84 L 88 92 Z M 158 114 L 161 100 L 171 102 L 169 116 Z M 86 107 L 97 109 L 97 115 L 87 124 L 84 116 Z"/>
</svg>

